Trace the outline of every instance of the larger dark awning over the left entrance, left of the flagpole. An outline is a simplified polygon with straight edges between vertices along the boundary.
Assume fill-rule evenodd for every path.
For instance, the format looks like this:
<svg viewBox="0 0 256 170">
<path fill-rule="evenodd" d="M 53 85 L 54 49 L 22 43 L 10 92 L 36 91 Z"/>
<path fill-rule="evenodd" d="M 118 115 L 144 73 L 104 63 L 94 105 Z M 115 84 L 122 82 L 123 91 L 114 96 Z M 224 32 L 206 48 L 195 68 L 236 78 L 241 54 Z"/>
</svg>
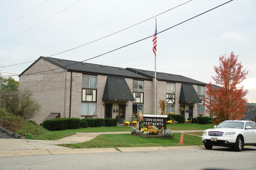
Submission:
<svg viewBox="0 0 256 170">
<path fill-rule="evenodd" d="M 102 101 L 135 101 L 124 78 L 107 78 Z"/>
</svg>

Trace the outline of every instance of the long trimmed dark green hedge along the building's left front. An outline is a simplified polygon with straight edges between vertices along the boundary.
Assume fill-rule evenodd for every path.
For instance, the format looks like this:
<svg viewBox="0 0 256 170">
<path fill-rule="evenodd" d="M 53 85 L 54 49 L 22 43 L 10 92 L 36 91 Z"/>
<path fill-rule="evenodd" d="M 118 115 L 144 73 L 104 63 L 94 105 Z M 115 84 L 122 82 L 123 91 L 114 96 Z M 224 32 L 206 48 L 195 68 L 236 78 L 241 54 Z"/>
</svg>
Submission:
<svg viewBox="0 0 256 170">
<path fill-rule="evenodd" d="M 88 127 L 117 126 L 116 119 L 78 119 L 78 118 L 57 118 L 43 122 L 43 127 L 48 130 L 66 130 Z"/>
</svg>

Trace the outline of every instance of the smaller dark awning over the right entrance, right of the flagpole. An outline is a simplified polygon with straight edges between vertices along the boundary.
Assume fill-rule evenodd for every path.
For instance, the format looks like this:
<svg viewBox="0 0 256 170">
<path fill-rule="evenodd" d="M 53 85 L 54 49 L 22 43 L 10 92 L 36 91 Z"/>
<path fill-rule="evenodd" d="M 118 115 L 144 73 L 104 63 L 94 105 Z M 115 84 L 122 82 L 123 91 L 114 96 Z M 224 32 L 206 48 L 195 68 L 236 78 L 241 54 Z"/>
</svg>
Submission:
<svg viewBox="0 0 256 170">
<path fill-rule="evenodd" d="M 192 84 L 182 84 L 180 89 L 180 103 L 201 103 Z"/>
</svg>

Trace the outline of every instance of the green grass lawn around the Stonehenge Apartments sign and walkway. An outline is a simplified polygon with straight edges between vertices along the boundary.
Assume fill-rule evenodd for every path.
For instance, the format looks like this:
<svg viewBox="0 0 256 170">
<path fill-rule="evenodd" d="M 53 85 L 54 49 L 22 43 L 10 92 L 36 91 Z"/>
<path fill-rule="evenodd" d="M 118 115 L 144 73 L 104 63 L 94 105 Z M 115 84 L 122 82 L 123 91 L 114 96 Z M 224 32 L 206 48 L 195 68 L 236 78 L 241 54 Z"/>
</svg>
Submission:
<svg viewBox="0 0 256 170">
<path fill-rule="evenodd" d="M 213 124 L 167 124 L 167 129 L 171 130 L 206 130 L 213 128 Z M 131 127 L 99 127 L 84 128 L 76 130 L 65 130 L 65 132 L 119 132 L 131 131 Z M 52 131 L 51 133 L 59 133 Z M 202 135 L 202 132 L 191 132 L 191 134 Z M 143 138 L 131 134 L 102 134 L 96 138 L 78 144 L 62 144 L 68 148 L 118 148 L 118 147 L 148 147 L 148 146 L 181 146 L 181 133 L 173 133 L 173 139 Z M 201 137 L 184 134 L 184 146 L 202 145 Z"/>
</svg>

